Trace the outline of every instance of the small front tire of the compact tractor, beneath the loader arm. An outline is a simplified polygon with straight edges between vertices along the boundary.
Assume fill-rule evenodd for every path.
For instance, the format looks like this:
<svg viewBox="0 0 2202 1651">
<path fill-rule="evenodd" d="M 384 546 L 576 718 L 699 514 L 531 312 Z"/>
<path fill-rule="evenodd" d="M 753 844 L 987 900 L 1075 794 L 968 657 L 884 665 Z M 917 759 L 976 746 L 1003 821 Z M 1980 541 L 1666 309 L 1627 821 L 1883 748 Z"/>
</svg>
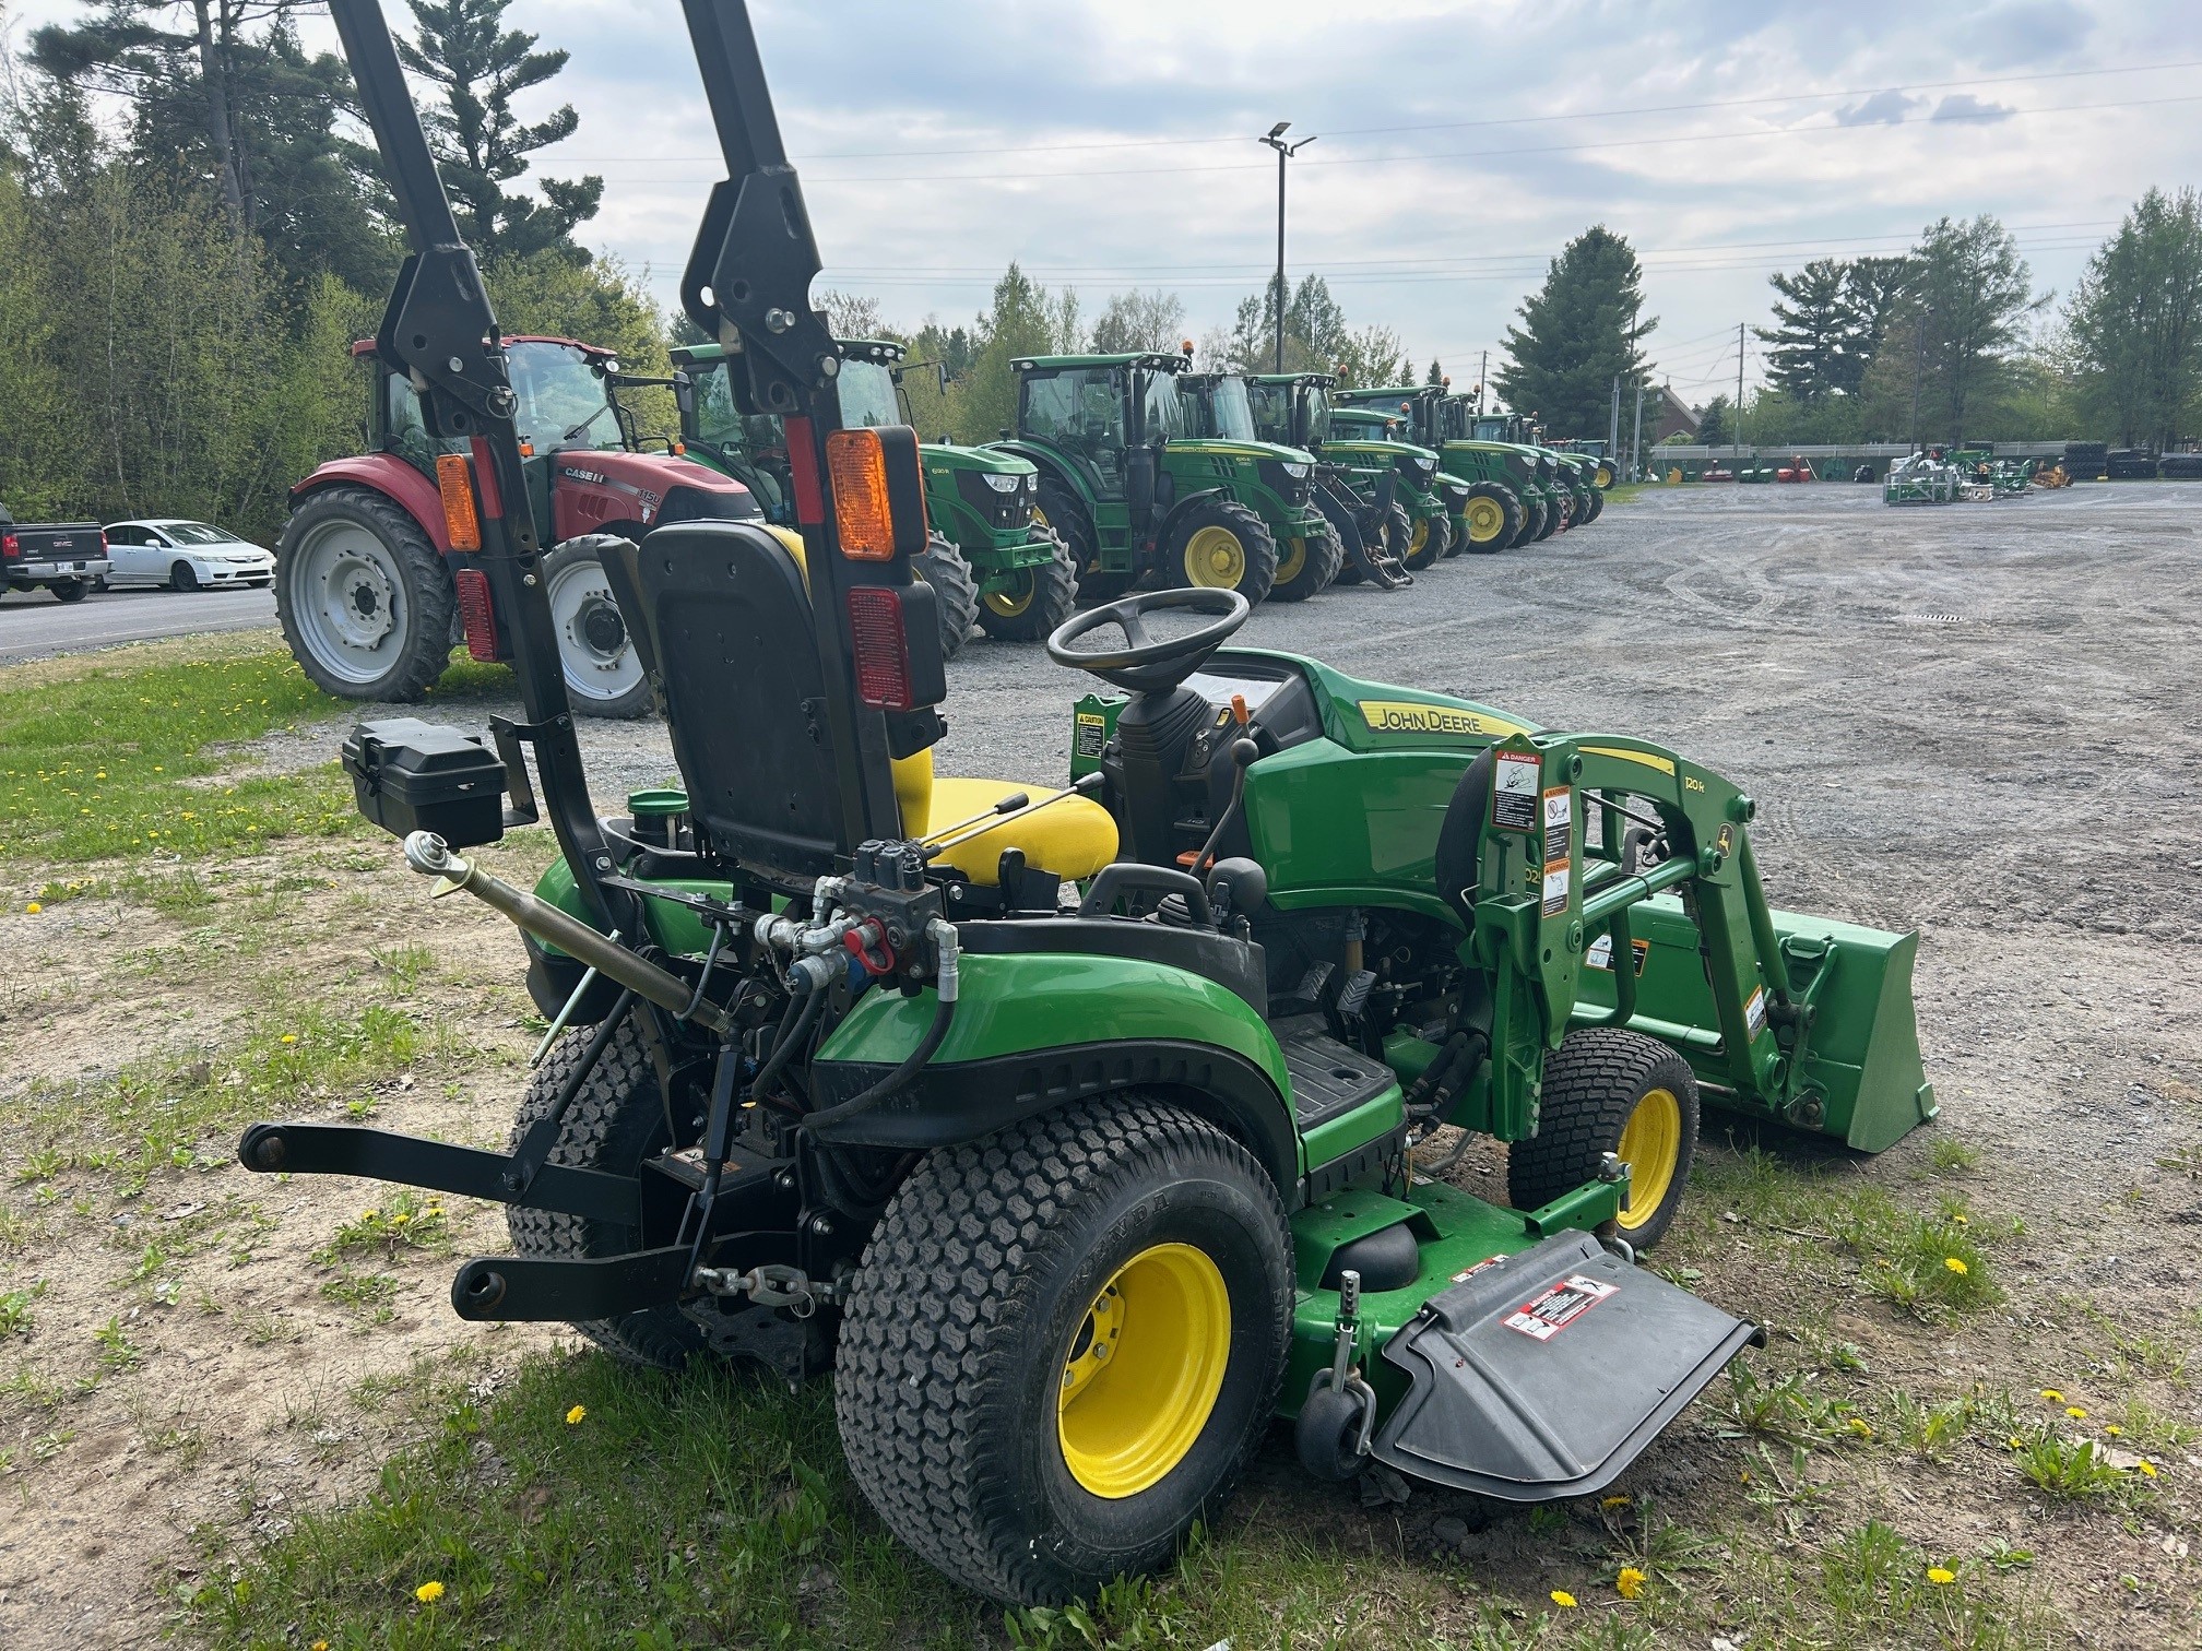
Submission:
<svg viewBox="0 0 2202 1651">
<path fill-rule="evenodd" d="M 1522 1211 L 1544 1209 L 1561 1193 L 1596 1180 L 1605 1153 L 1621 1149 L 1621 1136 L 1638 1105 L 1654 1092 L 1674 1098 L 1678 1138 L 1665 1162 L 1665 1184 L 1652 1165 L 1632 1165 L 1634 1206 L 1623 1217 L 1621 1237 L 1638 1250 L 1660 1242 L 1682 1206 L 1689 1165 L 1698 1151 L 1698 1079 L 1676 1050 L 1656 1037 L 1618 1026 L 1585 1026 L 1544 1057 L 1544 1105 L 1537 1134 L 1506 1149 L 1506 1200 Z M 1643 1195 L 1656 1195 L 1638 1215 Z"/>
</svg>

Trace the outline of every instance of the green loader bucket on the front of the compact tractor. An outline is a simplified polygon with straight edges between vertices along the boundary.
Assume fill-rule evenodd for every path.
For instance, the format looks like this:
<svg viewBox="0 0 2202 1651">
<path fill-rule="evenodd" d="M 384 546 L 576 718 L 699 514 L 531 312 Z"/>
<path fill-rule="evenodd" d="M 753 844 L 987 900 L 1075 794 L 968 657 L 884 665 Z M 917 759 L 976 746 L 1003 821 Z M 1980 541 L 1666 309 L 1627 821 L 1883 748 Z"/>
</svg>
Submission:
<svg viewBox="0 0 2202 1651">
<path fill-rule="evenodd" d="M 1698 955 L 1698 927 L 1682 903 L 1656 896 L 1634 907 L 1636 1017 L 1696 1068 L 1718 1107 L 1773 1116 L 1883 1151 L 1936 1116 L 1911 1008 L 1918 933 L 1865 929 L 1797 911 L 1773 914 L 1790 995 L 1812 1010 L 1786 1096 L 1737 1094 L 1720 1052 L 1720 1019 Z M 1581 975 L 1579 1021 L 1603 1021 L 1612 1002 L 1612 947 L 1592 947 Z"/>
</svg>

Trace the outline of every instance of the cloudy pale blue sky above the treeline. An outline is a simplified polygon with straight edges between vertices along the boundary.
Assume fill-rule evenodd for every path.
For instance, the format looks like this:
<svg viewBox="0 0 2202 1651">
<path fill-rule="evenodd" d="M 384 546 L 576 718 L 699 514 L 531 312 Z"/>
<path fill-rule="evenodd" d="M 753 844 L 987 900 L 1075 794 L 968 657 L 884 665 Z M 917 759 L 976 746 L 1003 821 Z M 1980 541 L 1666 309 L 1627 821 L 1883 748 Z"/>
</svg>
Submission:
<svg viewBox="0 0 2202 1651">
<path fill-rule="evenodd" d="M 31 22 L 68 0 L 13 7 Z M 392 0 L 392 11 L 399 7 Z M 962 319 L 1011 260 L 1163 286 L 1193 330 L 1275 260 L 1469 383 L 1552 253 L 1592 222 L 1645 262 L 1658 368 L 1735 383 L 1770 269 L 1900 251 L 1993 211 L 2065 293 L 2147 185 L 2202 174 L 2202 7 L 2176 0 L 757 0 L 826 255 L 890 317 Z M 716 143 L 674 0 L 515 0 L 573 51 L 544 95 L 599 172 L 586 238 L 672 295 Z M 1746 374 L 1757 376 L 1757 346 Z"/>
</svg>

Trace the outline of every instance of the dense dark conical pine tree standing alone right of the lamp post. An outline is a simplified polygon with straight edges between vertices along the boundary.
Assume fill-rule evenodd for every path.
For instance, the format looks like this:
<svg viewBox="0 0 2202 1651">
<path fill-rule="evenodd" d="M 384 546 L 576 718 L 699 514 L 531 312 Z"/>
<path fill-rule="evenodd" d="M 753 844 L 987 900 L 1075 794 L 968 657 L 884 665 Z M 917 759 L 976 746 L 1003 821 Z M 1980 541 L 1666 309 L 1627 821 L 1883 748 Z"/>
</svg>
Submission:
<svg viewBox="0 0 2202 1651">
<path fill-rule="evenodd" d="M 1506 405 L 1539 414 L 1546 429 L 1605 429 L 1614 379 L 1638 379 L 1647 363 L 1643 269 L 1627 238 L 1592 225 L 1546 271 L 1544 288 L 1522 299 L 1522 326 L 1506 328 L 1508 361 L 1495 379 Z"/>
</svg>

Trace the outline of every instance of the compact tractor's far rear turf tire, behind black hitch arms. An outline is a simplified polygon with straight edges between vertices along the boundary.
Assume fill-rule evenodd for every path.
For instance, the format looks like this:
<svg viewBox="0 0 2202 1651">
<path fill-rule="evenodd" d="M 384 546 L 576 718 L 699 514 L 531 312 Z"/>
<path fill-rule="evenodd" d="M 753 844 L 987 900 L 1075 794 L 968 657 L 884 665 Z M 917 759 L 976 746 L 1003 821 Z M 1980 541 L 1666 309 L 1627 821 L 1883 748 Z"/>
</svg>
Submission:
<svg viewBox="0 0 2202 1651">
<path fill-rule="evenodd" d="M 517 1147 L 528 1127 L 550 1109 L 595 1032 L 592 1026 L 566 1032 L 535 1068 L 520 1096 L 520 1114 L 513 1118 L 506 1149 Z M 665 1134 L 658 1076 L 630 1017 L 612 1032 L 597 1070 L 588 1074 L 581 1094 L 566 1107 L 557 1145 L 550 1147 L 550 1162 L 632 1176 L 645 1158 L 665 1147 Z M 504 1226 L 520 1255 L 570 1259 L 643 1248 L 639 1226 L 584 1215 L 513 1206 L 504 1211 Z M 689 1354 L 705 1345 L 702 1332 L 689 1323 L 680 1308 L 641 1308 L 619 1319 L 590 1319 L 577 1323 L 575 1330 L 632 1365 L 654 1365 L 656 1369 L 680 1369 Z"/>
</svg>

